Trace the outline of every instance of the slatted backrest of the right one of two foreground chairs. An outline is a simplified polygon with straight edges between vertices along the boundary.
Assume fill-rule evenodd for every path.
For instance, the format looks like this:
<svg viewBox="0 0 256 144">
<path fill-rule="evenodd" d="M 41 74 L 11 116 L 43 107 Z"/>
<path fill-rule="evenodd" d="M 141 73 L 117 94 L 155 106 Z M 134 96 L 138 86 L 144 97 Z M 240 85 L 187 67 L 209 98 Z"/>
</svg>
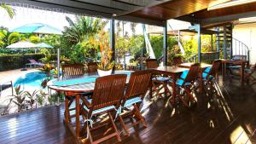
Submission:
<svg viewBox="0 0 256 144">
<path fill-rule="evenodd" d="M 137 71 L 131 73 L 128 88 L 125 93 L 125 100 L 138 96 L 145 95 L 150 83 L 151 73 L 148 71 Z"/>
</svg>

